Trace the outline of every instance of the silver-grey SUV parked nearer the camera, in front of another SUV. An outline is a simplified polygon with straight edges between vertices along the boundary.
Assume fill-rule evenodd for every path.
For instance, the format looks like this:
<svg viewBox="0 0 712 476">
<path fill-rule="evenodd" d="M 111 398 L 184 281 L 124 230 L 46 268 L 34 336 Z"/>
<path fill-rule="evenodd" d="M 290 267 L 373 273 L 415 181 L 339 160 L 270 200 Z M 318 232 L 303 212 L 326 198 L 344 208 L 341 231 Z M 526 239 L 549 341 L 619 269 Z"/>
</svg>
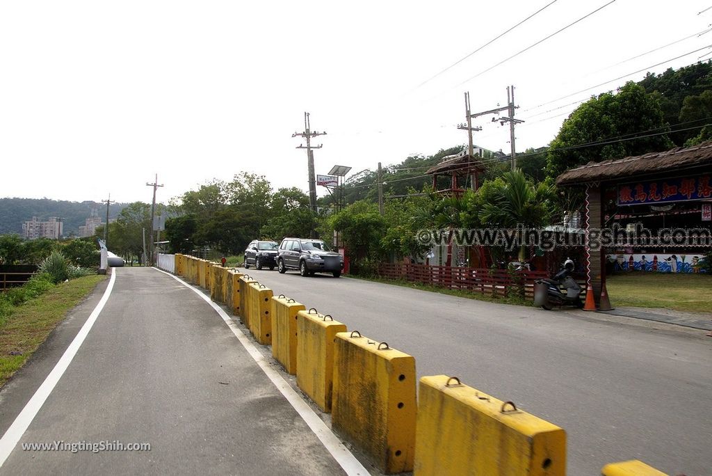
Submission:
<svg viewBox="0 0 712 476">
<path fill-rule="evenodd" d="M 279 245 L 277 269 L 281 273 L 298 269 L 302 276 L 331 273 L 337 278 L 344 269 L 344 259 L 320 239 L 285 238 Z"/>
</svg>

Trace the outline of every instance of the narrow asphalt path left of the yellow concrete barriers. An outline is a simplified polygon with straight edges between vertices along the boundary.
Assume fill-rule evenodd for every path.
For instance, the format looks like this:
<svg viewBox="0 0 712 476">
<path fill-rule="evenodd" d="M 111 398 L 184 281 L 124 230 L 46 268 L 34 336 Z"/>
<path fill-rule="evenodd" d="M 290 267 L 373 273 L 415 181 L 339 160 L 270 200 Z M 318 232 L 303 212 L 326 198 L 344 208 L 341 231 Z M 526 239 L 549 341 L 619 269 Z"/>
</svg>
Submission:
<svg viewBox="0 0 712 476">
<path fill-rule="evenodd" d="M 344 474 L 209 304 L 155 269 L 115 271 L 105 308 L 0 474 Z M 101 291 L 0 392 L 0 435 Z M 55 441 L 151 450 L 21 450 Z"/>
</svg>

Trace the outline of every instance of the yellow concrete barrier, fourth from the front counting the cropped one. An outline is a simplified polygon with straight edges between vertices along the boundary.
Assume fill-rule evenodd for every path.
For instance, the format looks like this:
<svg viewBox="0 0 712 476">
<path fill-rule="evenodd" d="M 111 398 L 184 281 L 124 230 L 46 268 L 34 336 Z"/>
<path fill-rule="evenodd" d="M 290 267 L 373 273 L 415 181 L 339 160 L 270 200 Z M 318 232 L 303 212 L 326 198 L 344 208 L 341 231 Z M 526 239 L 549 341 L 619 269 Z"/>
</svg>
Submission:
<svg viewBox="0 0 712 476">
<path fill-rule="evenodd" d="M 345 331 L 345 324 L 314 308 L 297 313 L 297 386 L 326 413 L 331 411 L 334 338 Z"/>
</svg>

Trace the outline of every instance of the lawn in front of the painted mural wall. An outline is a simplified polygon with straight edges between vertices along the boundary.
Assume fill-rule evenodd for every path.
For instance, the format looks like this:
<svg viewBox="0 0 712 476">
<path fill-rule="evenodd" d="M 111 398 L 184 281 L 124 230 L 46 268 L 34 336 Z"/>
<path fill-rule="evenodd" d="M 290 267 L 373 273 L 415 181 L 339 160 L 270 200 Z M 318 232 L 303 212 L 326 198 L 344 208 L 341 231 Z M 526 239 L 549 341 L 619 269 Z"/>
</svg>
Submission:
<svg viewBox="0 0 712 476">
<path fill-rule="evenodd" d="M 606 279 L 614 307 L 653 307 L 712 312 L 712 276 L 630 272 Z"/>
</svg>

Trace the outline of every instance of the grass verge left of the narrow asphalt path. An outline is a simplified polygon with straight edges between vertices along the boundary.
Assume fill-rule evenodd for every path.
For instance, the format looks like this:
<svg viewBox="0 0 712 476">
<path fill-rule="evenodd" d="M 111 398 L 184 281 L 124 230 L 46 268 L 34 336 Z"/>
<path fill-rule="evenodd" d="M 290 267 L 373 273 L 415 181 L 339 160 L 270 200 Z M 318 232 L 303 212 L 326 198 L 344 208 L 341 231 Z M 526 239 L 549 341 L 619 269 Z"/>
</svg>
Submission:
<svg viewBox="0 0 712 476">
<path fill-rule="evenodd" d="M 61 283 L 15 306 L 0 325 L 0 387 L 43 343 L 49 333 L 107 276 L 84 276 Z"/>
</svg>

